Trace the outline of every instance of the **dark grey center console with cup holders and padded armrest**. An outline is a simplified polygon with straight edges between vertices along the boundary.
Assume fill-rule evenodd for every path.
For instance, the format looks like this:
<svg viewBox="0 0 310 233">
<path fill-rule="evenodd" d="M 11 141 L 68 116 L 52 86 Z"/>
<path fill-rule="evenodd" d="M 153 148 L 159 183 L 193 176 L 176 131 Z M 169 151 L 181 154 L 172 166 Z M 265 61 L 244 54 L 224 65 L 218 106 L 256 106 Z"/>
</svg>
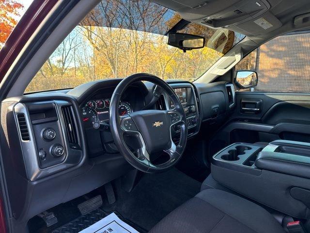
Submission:
<svg viewBox="0 0 310 233">
<path fill-rule="evenodd" d="M 219 183 L 282 213 L 310 219 L 310 143 L 235 143 L 213 156 Z"/>
</svg>

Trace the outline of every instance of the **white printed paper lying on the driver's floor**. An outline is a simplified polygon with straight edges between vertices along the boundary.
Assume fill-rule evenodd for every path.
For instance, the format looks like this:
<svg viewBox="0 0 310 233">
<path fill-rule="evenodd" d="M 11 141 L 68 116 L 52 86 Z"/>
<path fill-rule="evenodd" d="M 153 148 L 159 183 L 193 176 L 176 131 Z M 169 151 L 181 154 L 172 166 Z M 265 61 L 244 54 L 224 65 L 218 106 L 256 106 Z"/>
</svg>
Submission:
<svg viewBox="0 0 310 233">
<path fill-rule="evenodd" d="M 79 233 L 139 233 L 114 213 L 102 218 Z"/>
</svg>

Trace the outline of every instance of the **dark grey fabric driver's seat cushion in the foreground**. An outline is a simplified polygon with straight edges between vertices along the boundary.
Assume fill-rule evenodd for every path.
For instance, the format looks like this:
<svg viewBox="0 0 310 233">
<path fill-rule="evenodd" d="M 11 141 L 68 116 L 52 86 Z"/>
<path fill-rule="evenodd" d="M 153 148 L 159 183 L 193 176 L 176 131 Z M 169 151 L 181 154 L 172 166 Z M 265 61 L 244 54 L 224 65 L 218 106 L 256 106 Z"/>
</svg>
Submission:
<svg viewBox="0 0 310 233">
<path fill-rule="evenodd" d="M 231 193 L 206 189 L 186 201 L 149 233 L 285 233 L 262 207 Z"/>
</svg>

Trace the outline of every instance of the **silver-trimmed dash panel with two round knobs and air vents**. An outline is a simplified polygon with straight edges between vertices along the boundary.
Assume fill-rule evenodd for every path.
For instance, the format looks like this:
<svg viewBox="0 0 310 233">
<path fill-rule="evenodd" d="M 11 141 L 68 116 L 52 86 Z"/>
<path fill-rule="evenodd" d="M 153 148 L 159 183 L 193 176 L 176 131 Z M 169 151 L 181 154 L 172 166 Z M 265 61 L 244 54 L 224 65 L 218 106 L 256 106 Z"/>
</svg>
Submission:
<svg viewBox="0 0 310 233">
<path fill-rule="evenodd" d="M 71 166 L 82 158 L 77 119 L 65 100 L 19 102 L 14 106 L 21 149 L 30 181 Z"/>
</svg>

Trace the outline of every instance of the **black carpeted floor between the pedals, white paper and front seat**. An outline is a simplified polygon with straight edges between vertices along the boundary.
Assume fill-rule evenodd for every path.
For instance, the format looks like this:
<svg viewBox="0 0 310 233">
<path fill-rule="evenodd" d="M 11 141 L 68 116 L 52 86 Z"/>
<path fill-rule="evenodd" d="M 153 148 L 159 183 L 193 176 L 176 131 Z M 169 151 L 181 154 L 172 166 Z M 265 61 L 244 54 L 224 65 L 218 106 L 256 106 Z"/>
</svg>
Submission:
<svg viewBox="0 0 310 233">
<path fill-rule="evenodd" d="M 158 174 L 144 174 L 130 193 L 118 183 L 117 201 L 102 208 L 108 212 L 117 211 L 134 225 L 140 226 L 140 232 L 148 232 L 164 216 L 194 197 L 200 187 L 200 182 L 176 168 Z"/>
</svg>

